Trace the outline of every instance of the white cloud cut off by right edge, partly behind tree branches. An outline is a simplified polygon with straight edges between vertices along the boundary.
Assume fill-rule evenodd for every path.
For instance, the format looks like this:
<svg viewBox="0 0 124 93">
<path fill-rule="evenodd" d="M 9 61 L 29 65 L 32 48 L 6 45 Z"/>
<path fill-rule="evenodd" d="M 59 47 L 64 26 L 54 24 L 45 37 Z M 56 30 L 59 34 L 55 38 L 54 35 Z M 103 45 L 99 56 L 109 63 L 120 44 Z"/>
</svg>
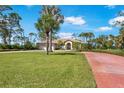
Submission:
<svg viewBox="0 0 124 93">
<path fill-rule="evenodd" d="M 120 24 L 124 23 L 124 16 L 118 16 L 109 20 L 109 24 L 112 26 L 113 25 L 120 26 L 120 25 L 117 25 L 117 23 L 120 23 Z"/>
</svg>

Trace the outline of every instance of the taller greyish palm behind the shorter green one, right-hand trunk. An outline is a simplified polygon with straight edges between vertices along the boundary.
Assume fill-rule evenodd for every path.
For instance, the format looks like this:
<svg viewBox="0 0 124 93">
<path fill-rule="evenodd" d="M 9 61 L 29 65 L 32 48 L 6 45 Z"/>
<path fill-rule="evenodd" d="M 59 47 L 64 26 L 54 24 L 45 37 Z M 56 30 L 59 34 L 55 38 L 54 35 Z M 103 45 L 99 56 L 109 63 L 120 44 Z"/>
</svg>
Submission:
<svg viewBox="0 0 124 93">
<path fill-rule="evenodd" d="M 59 26 L 64 21 L 63 15 L 60 13 L 60 9 L 56 6 L 43 6 L 42 14 L 49 14 L 54 20 L 50 27 L 50 52 L 52 52 L 52 34 L 56 33 L 59 30 Z"/>
</svg>

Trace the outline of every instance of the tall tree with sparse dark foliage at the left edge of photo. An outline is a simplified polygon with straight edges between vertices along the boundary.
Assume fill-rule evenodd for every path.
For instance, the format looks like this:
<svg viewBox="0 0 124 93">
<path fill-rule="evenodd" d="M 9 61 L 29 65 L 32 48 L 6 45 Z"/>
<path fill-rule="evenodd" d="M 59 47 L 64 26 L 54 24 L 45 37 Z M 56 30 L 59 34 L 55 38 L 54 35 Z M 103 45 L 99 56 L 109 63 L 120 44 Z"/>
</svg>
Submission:
<svg viewBox="0 0 124 93">
<path fill-rule="evenodd" d="M 3 13 L 5 10 L 12 10 L 10 6 L 0 6 L 0 36 L 4 44 L 11 44 L 12 35 L 17 29 L 21 29 L 21 17 L 17 13 Z"/>
</svg>

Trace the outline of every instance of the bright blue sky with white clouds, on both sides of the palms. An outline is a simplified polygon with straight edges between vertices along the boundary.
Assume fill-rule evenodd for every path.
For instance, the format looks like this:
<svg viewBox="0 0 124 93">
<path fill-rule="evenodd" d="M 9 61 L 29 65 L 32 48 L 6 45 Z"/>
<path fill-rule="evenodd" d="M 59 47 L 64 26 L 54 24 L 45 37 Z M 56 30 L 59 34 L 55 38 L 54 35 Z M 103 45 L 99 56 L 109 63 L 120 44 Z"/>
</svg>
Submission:
<svg viewBox="0 0 124 93">
<path fill-rule="evenodd" d="M 124 6 L 101 6 L 101 5 L 66 5 L 58 6 L 65 17 L 58 35 L 60 37 L 71 37 L 72 33 L 93 32 L 96 36 L 101 34 L 118 34 L 118 28 L 112 27 L 109 23 L 117 17 L 117 13 L 124 9 Z M 13 11 L 22 17 L 21 25 L 25 35 L 30 32 L 37 33 L 34 23 L 40 17 L 41 6 L 12 6 Z"/>
</svg>

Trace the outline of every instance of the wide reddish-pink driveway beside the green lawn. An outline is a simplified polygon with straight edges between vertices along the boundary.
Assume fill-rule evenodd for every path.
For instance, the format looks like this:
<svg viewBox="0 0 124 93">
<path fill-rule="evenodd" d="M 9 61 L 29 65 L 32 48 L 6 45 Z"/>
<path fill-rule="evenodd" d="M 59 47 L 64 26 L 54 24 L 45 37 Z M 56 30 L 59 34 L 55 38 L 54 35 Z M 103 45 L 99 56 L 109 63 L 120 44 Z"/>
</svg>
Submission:
<svg viewBox="0 0 124 93">
<path fill-rule="evenodd" d="M 124 57 L 85 52 L 98 88 L 124 88 Z"/>
</svg>

